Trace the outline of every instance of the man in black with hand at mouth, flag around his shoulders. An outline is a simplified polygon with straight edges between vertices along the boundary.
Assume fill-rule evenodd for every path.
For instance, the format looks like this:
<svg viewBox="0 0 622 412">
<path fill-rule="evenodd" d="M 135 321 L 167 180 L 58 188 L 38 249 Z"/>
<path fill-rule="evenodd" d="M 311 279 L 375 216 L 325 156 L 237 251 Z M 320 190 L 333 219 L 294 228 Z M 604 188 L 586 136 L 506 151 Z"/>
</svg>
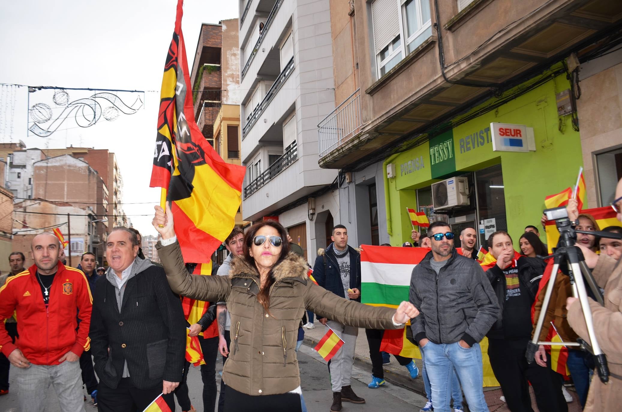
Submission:
<svg viewBox="0 0 622 412">
<path fill-rule="evenodd" d="M 494 376 L 501 385 L 512 412 L 534 412 L 529 397 L 529 383 L 534 388 L 538 409 L 566 412 L 559 375 L 536 362 L 527 363 L 525 352 L 531 339 L 531 306 L 534 303 L 545 263 L 538 258 L 521 256 L 507 232 L 494 232 L 488 238 L 488 255 L 482 263 L 502 316 L 488 332 L 488 357 Z"/>
</svg>

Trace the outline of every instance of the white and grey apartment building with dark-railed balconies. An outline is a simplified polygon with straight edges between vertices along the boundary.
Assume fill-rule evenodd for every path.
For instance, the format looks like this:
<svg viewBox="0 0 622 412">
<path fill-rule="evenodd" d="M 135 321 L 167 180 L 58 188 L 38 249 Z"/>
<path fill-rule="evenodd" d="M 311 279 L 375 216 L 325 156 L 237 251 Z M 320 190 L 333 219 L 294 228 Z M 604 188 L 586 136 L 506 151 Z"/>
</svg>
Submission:
<svg viewBox="0 0 622 412">
<path fill-rule="evenodd" d="M 335 107 L 328 1 L 240 2 L 243 218 L 278 220 L 309 261 L 340 223 L 337 171 L 318 166 Z"/>
</svg>

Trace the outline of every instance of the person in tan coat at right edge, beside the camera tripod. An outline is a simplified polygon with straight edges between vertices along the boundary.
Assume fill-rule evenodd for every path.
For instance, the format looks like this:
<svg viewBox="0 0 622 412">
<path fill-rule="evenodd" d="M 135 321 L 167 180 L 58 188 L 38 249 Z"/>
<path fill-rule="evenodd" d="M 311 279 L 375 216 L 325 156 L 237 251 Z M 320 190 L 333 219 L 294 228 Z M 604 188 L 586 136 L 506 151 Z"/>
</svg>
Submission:
<svg viewBox="0 0 622 412">
<path fill-rule="evenodd" d="M 611 206 L 617 213 L 616 218 L 622 222 L 622 179 L 618 182 L 615 200 Z M 569 218 L 575 220 L 576 212 L 575 215 L 569 213 Z M 588 302 L 596 339 L 607 357 L 610 372 L 609 382 L 606 384 L 596 377 L 592 378 L 584 411 L 616 411 L 622 403 L 622 265 L 618 265 L 618 261 L 606 253 L 599 256 L 580 243 L 577 246 L 583 252 L 585 263 L 593 268 L 592 274 L 596 283 L 605 289 L 604 307 L 591 298 L 588 298 Z M 577 300 L 576 297 L 566 300 L 568 323 L 579 337 L 590 344 L 581 303 Z"/>
</svg>

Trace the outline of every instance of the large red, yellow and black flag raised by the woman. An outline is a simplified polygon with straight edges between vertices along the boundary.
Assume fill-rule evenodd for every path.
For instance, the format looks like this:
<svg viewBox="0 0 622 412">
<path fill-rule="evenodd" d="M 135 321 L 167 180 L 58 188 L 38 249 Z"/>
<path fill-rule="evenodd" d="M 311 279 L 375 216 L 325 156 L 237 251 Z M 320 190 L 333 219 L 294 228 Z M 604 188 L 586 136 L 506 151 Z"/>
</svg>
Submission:
<svg viewBox="0 0 622 412">
<path fill-rule="evenodd" d="M 163 193 L 166 190 L 166 200 L 172 203 L 183 260 L 207 262 L 233 229 L 245 169 L 223 161 L 195 122 L 182 5 L 183 0 L 178 0 L 175 31 L 164 65 L 149 185 L 162 187 Z"/>
</svg>

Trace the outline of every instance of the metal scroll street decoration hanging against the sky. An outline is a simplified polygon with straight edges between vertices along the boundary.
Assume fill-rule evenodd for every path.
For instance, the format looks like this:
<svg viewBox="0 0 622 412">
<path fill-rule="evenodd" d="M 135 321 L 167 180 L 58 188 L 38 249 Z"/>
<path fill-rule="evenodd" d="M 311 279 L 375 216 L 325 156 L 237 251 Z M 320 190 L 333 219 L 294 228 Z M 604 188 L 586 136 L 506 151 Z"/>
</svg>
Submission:
<svg viewBox="0 0 622 412">
<path fill-rule="evenodd" d="M 31 89 L 30 91 L 34 90 Z M 96 93 L 86 98 L 78 98 L 71 101 L 67 90 L 57 89 L 52 96 L 52 105 L 36 103 L 29 107 L 30 126 L 28 130 L 37 136 L 47 138 L 50 134 L 58 131 L 61 124 L 70 117 L 73 117 L 75 123 L 81 128 L 89 128 L 100 121 L 101 118 L 106 121 L 114 121 L 121 114 L 134 115 L 142 108 L 142 92 L 132 91 L 129 93 L 131 93 L 129 94 L 130 98 L 135 99 L 131 106 L 125 103 L 119 96 L 108 91 L 96 91 Z M 140 94 L 135 95 L 134 93 Z"/>
</svg>

